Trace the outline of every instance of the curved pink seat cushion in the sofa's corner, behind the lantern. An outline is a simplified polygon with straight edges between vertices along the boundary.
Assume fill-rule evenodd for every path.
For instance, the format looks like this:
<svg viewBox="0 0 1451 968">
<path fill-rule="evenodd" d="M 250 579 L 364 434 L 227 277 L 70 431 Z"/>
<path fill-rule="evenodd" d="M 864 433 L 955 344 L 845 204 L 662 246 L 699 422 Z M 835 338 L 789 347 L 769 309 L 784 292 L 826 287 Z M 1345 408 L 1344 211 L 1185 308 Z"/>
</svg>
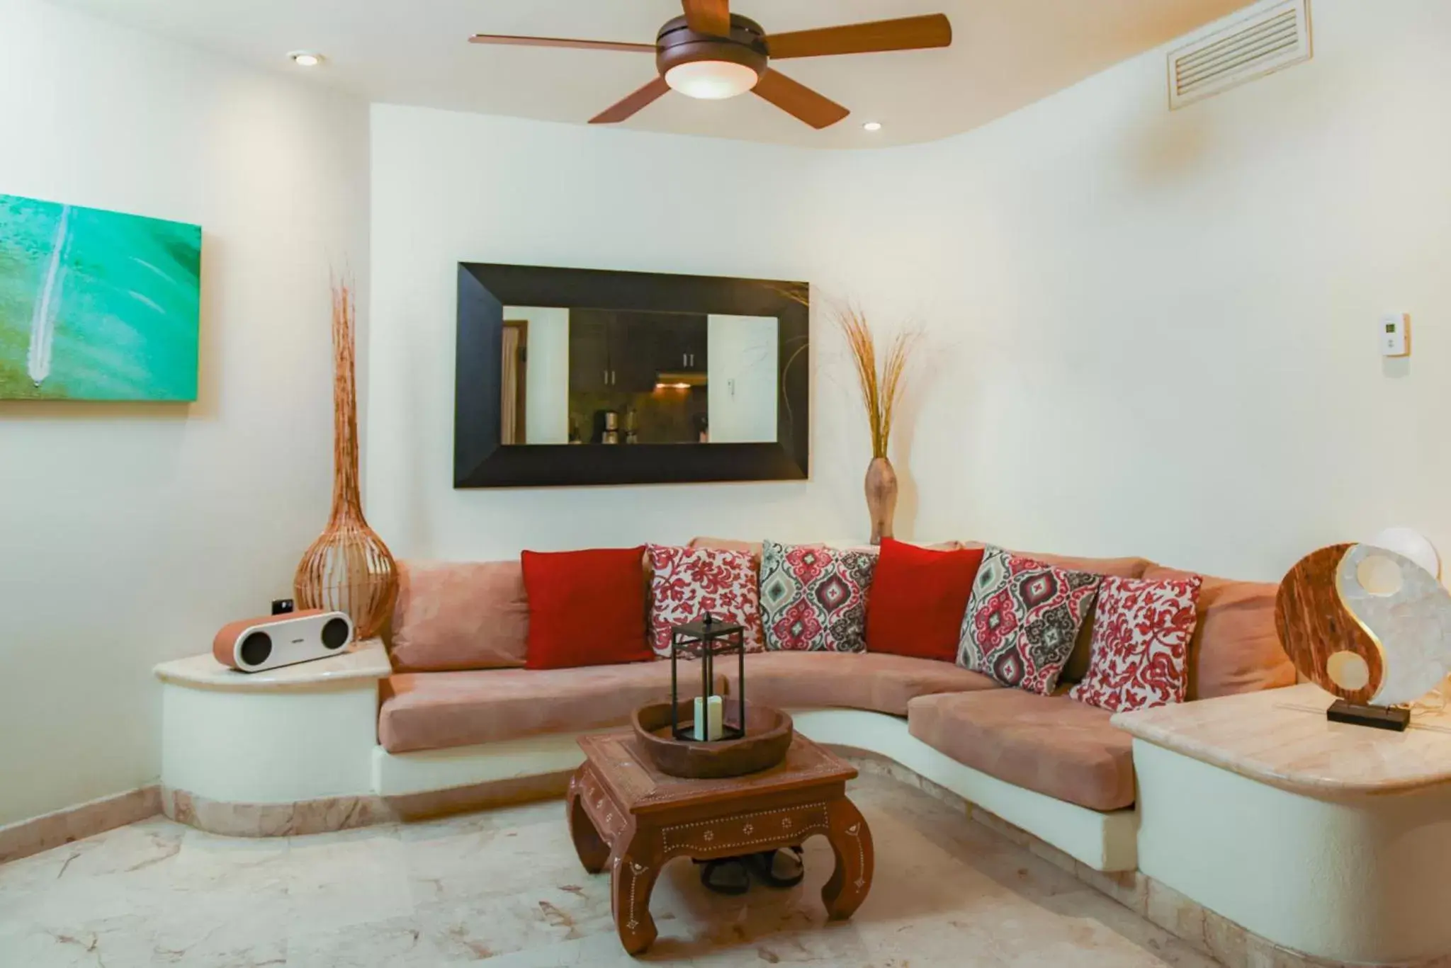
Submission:
<svg viewBox="0 0 1451 968">
<path fill-rule="evenodd" d="M 737 694 L 736 659 L 720 659 Z M 933 692 L 997 689 L 985 675 L 950 662 L 885 652 L 763 652 L 746 656 L 746 701 L 781 710 L 840 707 L 907 715 L 907 701 Z"/>
</svg>

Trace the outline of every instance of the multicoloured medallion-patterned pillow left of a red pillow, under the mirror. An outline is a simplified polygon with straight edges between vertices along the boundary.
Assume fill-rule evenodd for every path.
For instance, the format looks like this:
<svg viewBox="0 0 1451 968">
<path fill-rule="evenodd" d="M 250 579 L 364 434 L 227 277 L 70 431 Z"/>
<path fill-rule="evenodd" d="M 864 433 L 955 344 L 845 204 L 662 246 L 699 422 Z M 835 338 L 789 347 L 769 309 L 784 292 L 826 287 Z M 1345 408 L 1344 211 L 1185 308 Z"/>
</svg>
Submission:
<svg viewBox="0 0 1451 968">
<path fill-rule="evenodd" d="M 766 541 L 760 612 L 768 650 L 862 652 L 876 556 Z"/>
</svg>

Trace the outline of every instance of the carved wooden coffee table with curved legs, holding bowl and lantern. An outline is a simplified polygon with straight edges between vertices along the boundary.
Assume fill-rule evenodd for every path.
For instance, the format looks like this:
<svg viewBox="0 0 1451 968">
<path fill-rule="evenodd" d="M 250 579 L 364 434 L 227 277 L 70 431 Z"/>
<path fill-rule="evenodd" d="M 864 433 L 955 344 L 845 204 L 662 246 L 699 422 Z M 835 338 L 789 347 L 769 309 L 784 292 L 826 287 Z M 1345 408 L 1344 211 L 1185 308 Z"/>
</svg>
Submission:
<svg viewBox="0 0 1451 968">
<path fill-rule="evenodd" d="M 850 917 L 872 888 L 872 832 L 846 798 L 856 769 L 797 736 L 786 759 L 731 779 L 681 779 L 654 768 L 633 733 L 583 736 L 569 781 L 569 833 L 585 869 L 609 868 L 611 910 L 631 955 L 656 938 L 650 891 L 672 858 L 730 858 L 824 834 L 836 871 L 821 888 L 827 917 Z"/>
</svg>

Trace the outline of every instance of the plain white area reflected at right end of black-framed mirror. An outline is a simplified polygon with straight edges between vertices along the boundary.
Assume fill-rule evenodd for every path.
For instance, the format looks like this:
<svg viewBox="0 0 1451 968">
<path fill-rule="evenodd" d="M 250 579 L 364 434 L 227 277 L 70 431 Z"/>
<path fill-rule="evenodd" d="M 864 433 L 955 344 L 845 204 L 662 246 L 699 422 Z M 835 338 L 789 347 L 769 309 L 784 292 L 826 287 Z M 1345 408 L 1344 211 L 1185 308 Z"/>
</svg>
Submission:
<svg viewBox="0 0 1451 968">
<path fill-rule="evenodd" d="M 778 348 L 775 316 L 708 316 L 705 329 L 707 406 L 717 444 L 775 443 Z"/>
</svg>

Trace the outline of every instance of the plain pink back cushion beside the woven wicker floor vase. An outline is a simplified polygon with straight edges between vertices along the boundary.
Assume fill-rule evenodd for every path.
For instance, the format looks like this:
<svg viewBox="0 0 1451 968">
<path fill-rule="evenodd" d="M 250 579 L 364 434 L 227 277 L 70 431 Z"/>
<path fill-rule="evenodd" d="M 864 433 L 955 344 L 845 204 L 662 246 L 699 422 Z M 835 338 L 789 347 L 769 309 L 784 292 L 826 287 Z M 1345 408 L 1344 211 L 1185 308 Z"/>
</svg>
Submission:
<svg viewBox="0 0 1451 968">
<path fill-rule="evenodd" d="M 399 672 L 524 665 L 530 605 L 515 562 L 399 562 L 387 650 Z"/>
</svg>

